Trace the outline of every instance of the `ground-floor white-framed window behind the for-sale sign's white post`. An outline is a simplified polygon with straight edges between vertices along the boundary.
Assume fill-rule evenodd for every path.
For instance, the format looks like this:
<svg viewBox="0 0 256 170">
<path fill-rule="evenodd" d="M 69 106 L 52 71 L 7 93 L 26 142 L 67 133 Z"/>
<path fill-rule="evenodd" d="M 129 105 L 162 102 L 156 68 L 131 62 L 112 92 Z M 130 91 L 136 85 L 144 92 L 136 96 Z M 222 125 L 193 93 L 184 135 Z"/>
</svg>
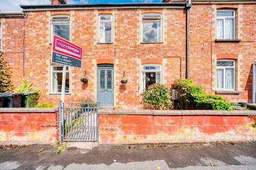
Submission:
<svg viewBox="0 0 256 170">
<path fill-rule="evenodd" d="M 69 67 L 66 67 L 66 84 L 65 92 L 69 92 Z M 51 93 L 52 94 L 61 94 L 62 88 L 62 74 L 63 66 L 61 65 L 52 65 L 51 66 Z"/>
</svg>

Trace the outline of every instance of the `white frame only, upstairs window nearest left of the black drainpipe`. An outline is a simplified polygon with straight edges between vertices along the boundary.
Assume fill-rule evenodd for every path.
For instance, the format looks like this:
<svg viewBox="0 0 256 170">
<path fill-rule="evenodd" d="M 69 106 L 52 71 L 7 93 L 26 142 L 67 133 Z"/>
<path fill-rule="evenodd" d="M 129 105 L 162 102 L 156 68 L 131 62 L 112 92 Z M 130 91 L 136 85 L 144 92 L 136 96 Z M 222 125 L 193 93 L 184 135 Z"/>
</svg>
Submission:
<svg viewBox="0 0 256 170">
<path fill-rule="evenodd" d="M 156 20 L 145 20 L 143 21 L 143 19 L 147 18 L 145 16 L 147 15 L 160 15 L 160 17 L 152 17 L 151 19 L 160 19 L 159 21 Z M 147 18 L 150 19 L 150 18 Z M 157 41 L 157 42 L 150 42 L 150 41 L 143 41 L 143 22 L 160 22 L 160 29 L 161 29 L 161 40 Z M 144 13 L 141 15 L 141 43 L 162 43 L 163 42 L 163 15 L 160 13 Z"/>
</svg>

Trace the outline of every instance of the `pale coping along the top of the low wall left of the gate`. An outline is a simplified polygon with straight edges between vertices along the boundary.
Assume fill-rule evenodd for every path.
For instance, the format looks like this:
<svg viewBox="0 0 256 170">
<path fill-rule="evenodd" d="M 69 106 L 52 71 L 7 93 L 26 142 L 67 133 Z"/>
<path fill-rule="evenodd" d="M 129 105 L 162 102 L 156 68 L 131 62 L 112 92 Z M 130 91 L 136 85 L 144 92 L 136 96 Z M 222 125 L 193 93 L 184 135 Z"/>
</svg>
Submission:
<svg viewBox="0 0 256 170">
<path fill-rule="evenodd" d="M 52 113 L 57 111 L 58 108 L 0 108 L 0 113 Z"/>
</svg>

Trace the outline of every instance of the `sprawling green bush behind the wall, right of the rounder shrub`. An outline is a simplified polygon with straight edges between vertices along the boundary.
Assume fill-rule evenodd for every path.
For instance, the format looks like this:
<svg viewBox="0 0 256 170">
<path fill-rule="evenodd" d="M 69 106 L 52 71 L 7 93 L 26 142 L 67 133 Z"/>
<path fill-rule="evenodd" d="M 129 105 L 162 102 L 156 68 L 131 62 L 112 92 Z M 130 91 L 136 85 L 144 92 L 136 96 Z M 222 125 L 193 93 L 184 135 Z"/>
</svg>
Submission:
<svg viewBox="0 0 256 170">
<path fill-rule="evenodd" d="M 231 110 L 230 104 L 219 95 L 206 94 L 202 87 L 191 80 L 176 80 L 173 85 L 178 90 L 180 109 Z"/>
</svg>

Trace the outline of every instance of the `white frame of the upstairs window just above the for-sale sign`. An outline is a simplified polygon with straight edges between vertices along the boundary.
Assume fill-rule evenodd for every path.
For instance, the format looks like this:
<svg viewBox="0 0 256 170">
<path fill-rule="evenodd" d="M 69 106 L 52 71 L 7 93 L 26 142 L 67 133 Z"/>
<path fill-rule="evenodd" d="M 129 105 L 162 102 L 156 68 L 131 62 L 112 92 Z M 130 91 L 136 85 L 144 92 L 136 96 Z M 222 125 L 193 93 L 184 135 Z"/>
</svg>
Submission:
<svg viewBox="0 0 256 170">
<path fill-rule="evenodd" d="M 60 18 L 66 18 L 66 19 L 60 19 Z M 58 19 L 59 18 L 59 19 Z M 59 21 L 59 22 L 55 22 L 54 21 Z M 63 22 L 62 22 L 63 21 Z M 65 22 L 66 21 L 66 22 Z M 54 24 L 63 24 L 63 25 L 69 25 L 69 40 L 70 41 L 70 16 L 69 15 L 52 15 L 51 16 L 51 42 L 53 40 L 53 25 Z"/>
</svg>

